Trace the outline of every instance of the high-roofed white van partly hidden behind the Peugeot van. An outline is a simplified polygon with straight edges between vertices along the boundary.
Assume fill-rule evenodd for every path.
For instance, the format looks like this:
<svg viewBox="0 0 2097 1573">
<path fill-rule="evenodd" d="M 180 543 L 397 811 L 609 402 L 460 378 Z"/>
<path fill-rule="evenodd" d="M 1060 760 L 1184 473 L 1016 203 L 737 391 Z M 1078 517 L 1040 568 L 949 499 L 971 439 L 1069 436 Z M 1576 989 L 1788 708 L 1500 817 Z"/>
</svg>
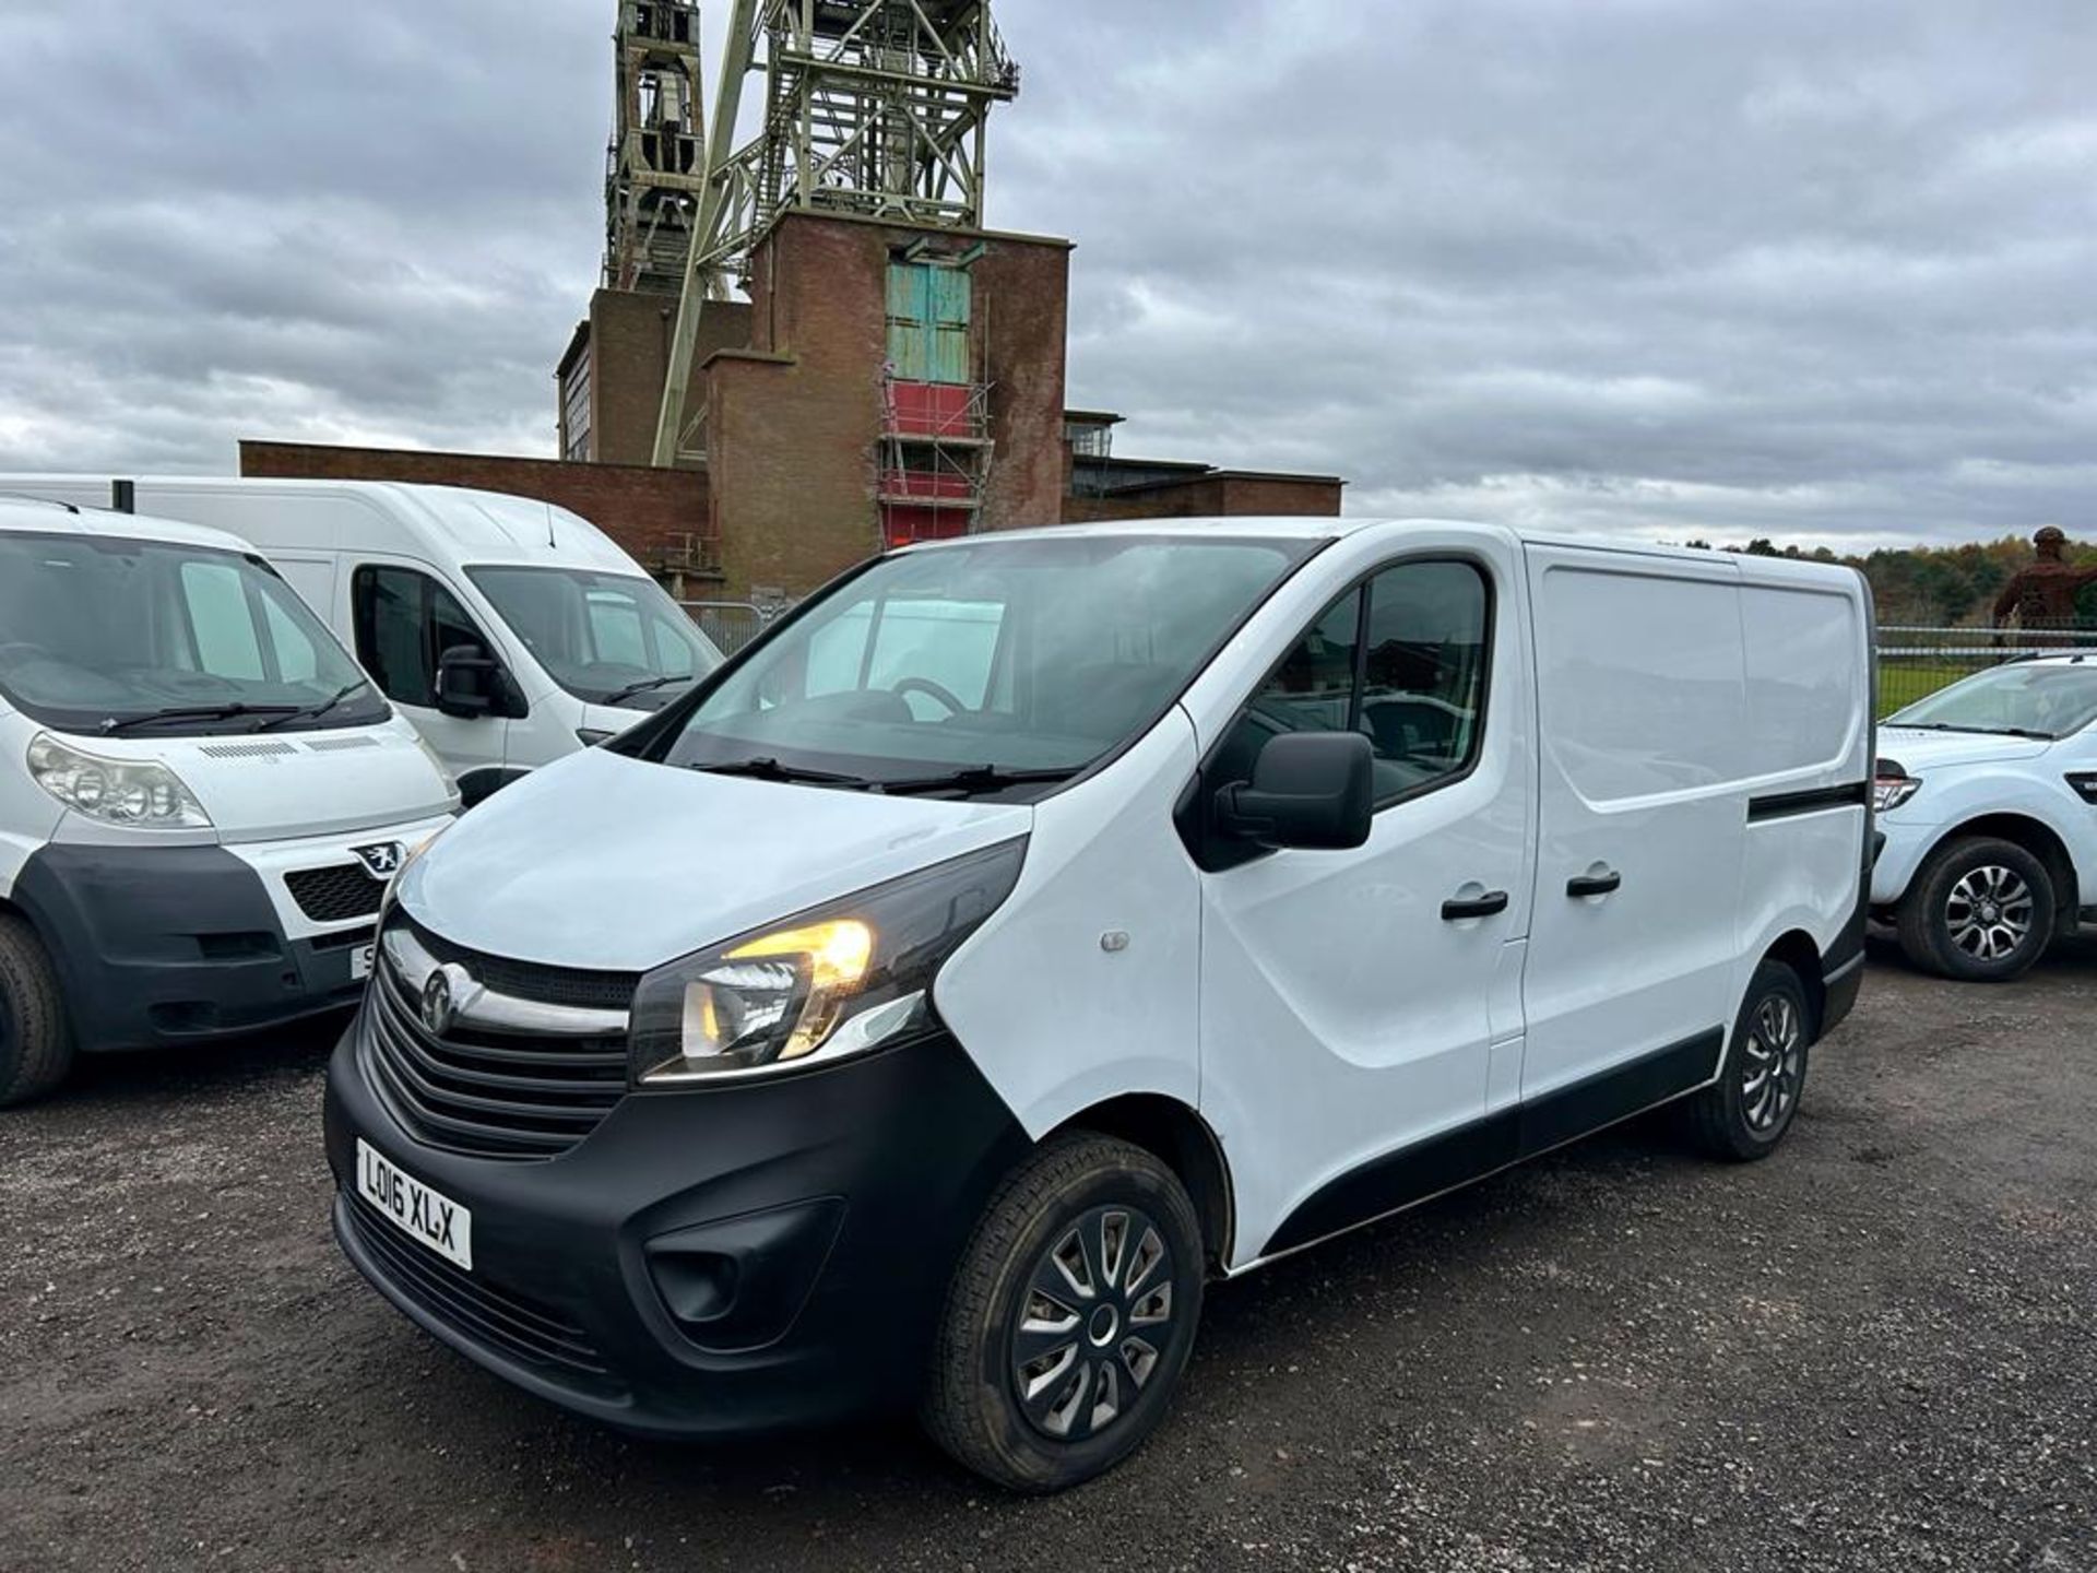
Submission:
<svg viewBox="0 0 2097 1573">
<path fill-rule="evenodd" d="M 455 487 L 0 476 L 0 491 L 231 531 L 333 625 L 468 807 L 623 732 L 721 652 L 596 524 Z"/>
</svg>

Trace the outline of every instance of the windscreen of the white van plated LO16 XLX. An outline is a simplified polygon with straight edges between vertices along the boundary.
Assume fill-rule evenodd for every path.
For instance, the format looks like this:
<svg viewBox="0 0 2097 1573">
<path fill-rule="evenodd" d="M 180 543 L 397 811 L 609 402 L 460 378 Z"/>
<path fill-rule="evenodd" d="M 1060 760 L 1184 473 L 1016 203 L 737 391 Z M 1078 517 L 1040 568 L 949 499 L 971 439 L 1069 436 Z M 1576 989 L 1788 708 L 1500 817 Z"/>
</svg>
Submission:
<svg viewBox="0 0 2097 1573">
<path fill-rule="evenodd" d="M 891 793 L 1067 780 L 1164 715 L 1317 545 L 986 537 L 883 558 L 640 749 L 692 770 Z"/>
</svg>

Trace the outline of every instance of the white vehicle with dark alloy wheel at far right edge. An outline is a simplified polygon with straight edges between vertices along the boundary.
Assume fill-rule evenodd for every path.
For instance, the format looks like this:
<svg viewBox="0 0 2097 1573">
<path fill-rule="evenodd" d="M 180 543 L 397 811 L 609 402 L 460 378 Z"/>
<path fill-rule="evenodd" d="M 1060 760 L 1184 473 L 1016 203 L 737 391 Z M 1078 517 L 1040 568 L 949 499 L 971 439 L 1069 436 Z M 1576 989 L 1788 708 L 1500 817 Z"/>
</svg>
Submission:
<svg viewBox="0 0 2097 1573">
<path fill-rule="evenodd" d="M 2022 977 L 2097 923 L 2097 652 L 1990 667 L 1879 732 L 1873 914 L 1917 967 Z"/>
</svg>

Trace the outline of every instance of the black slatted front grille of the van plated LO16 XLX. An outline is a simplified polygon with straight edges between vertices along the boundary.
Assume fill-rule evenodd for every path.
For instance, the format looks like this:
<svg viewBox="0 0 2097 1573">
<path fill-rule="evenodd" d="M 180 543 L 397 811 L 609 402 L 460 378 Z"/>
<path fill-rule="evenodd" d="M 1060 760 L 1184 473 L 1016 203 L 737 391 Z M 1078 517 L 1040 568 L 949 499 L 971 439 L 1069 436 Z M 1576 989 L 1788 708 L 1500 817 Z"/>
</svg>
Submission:
<svg viewBox="0 0 2097 1573">
<path fill-rule="evenodd" d="M 459 965 L 484 988 L 507 992 L 478 967 Z M 631 988 L 617 1009 L 627 1003 Z M 474 1158 L 558 1158 L 627 1095 L 623 1034 L 560 1038 L 463 1021 L 432 1034 L 384 946 L 359 1038 L 371 1084 L 407 1133 Z"/>
</svg>

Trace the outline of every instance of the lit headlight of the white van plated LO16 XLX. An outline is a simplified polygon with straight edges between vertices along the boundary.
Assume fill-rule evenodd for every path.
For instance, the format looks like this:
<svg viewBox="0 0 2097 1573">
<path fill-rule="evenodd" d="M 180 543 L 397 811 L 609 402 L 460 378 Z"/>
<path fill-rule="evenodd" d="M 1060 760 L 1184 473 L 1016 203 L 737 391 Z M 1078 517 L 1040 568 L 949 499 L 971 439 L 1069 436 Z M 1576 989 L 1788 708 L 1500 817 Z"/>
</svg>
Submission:
<svg viewBox="0 0 2097 1573">
<path fill-rule="evenodd" d="M 633 1080 L 761 1076 L 921 1030 L 933 975 L 1013 893 L 1023 856 L 1007 841 L 658 967 L 633 994 Z"/>
</svg>

